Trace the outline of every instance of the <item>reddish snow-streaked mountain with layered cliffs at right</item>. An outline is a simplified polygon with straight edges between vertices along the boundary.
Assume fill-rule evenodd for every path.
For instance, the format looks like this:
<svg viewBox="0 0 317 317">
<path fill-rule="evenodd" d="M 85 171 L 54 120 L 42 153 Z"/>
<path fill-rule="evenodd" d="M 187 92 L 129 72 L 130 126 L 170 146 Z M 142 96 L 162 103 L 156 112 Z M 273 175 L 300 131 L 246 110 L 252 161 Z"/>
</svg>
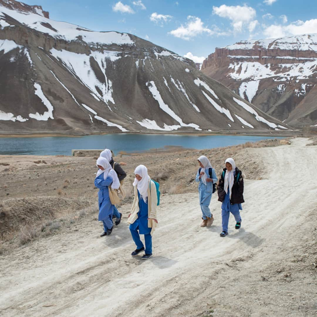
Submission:
<svg viewBox="0 0 317 317">
<path fill-rule="evenodd" d="M 285 123 L 316 124 L 317 34 L 217 48 L 202 71 Z"/>
</svg>

